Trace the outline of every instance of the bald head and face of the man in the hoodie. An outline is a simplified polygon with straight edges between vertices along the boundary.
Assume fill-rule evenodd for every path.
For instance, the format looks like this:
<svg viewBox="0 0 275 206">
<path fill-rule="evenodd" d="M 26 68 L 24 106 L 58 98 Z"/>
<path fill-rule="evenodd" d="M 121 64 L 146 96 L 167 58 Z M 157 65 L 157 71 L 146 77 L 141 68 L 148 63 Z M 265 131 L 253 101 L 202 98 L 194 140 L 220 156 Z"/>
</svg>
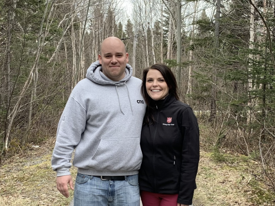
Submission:
<svg viewBox="0 0 275 206">
<path fill-rule="evenodd" d="M 123 79 L 128 56 L 120 39 L 105 39 L 101 45 L 101 54 L 98 55 L 103 74 L 113 81 Z"/>
</svg>

